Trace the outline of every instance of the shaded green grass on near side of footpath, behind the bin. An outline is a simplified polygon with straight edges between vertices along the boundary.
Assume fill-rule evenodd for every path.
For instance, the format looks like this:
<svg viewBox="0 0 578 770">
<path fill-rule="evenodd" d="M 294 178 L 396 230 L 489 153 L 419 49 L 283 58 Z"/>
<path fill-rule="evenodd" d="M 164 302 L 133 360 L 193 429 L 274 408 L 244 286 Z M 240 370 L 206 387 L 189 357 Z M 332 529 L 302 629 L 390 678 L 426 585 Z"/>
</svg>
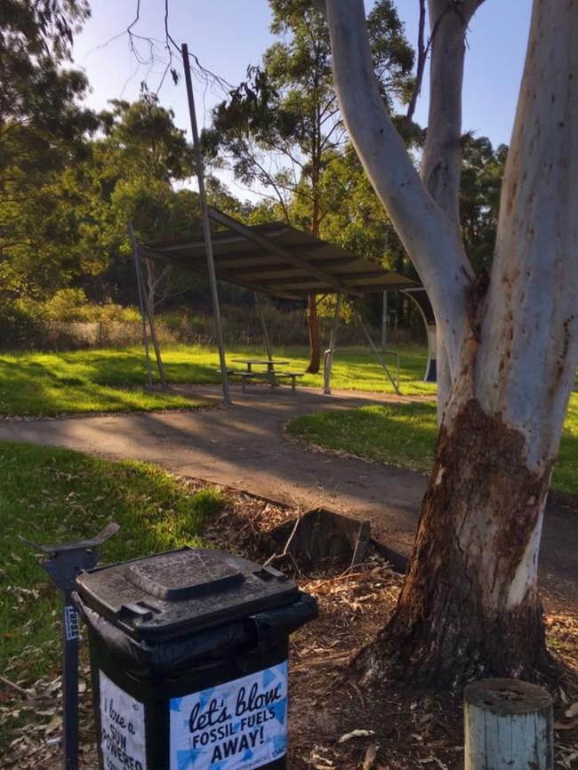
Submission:
<svg viewBox="0 0 578 770">
<path fill-rule="evenodd" d="M 0 464 L 0 670 L 18 681 L 57 670 L 60 656 L 58 595 L 19 534 L 41 543 L 76 540 L 115 520 L 121 530 L 101 557 L 124 561 L 202 545 L 201 525 L 225 504 L 214 489 L 190 493 L 138 462 L 0 442 Z"/>
</svg>

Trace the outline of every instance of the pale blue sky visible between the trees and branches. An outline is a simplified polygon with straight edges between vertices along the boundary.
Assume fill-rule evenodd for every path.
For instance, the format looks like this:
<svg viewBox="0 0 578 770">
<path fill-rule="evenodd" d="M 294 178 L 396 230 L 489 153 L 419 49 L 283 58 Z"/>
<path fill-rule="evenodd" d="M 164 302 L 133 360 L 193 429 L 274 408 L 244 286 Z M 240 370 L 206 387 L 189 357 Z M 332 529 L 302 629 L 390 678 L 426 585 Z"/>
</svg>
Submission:
<svg viewBox="0 0 578 770">
<path fill-rule="evenodd" d="M 131 50 L 126 28 L 135 18 L 137 0 L 90 0 L 92 18 L 76 36 L 76 66 L 84 68 L 92 85 L 89 104 L 106 108 L 110 99 L 135 100 L 140 83 L 157 91 L 163 64 L 149 63 L 149 44 L 134 38 L 140 61 Z M 371 0 L 365 0 L 370 6 Z M 400 19 L 413 46 L 417 39 L 418 0 L 397 0 Z M 275 39 L 269 32 L 267 0 L 169 0 L 169 31 L 177 44 L 187 43 L 206 69 L 231 84 L 245 78 L 249 65 L 261 62 L 261 55 Z M 531 0 L 486 0 L 470 23 L 463 88 L 463 131 L 488 136 L 497 146 L 510 142 L 518 87 L 530 23 Z M 135 35 L 158 40 L 158 55 L 166 58 L 165 3 L 140 0 Z M 182 72 L 178 53 L 173 66 Z M 214 104 L 224 92 L 196 78 L 195 99 L 200 126 L 210 123 Z M 173 84 L 165 77 L 159 92 L 161 104 L 173 108 L 175 123 L 190 136 L 184 79 Z M 427 124 L 427 84 L 418 102 L 415 119 Z M 228 180 L 231 191 L 244 197 Z"/>
</svg>

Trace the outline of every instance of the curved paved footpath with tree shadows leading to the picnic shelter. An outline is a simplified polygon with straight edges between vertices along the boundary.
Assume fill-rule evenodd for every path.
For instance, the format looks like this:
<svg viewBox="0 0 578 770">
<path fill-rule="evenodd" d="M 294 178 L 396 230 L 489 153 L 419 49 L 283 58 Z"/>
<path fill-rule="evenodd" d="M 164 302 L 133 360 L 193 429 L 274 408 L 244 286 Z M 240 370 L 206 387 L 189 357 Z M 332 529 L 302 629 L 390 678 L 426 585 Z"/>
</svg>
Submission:
<svg viewBox="0 0 578 770">
<path fill-rule="evenodd" d="M 197 395 L 220 400 L 215 387 Z M 324 506 L 369 518 L 373 536 L 408 556 L 426 477 L 378 463 L 309 449 L 283 436 L 300 414 L 386 400 L 351 391 L 326 397 L 317 390 L 233 389 L 229 407 L 191 412 L 105 414 L 58 420 L 0 421 L 0 439 L 67 446 L 113 460 L 155 462 L 181 476 L 202 478 L 289 503 Z M 409 399 L 407 399 L 409 400 Z M 577 514 L 549 503 L 541 552 L 542 593 L 551 611 L 578 614 Z"/>
</svg>

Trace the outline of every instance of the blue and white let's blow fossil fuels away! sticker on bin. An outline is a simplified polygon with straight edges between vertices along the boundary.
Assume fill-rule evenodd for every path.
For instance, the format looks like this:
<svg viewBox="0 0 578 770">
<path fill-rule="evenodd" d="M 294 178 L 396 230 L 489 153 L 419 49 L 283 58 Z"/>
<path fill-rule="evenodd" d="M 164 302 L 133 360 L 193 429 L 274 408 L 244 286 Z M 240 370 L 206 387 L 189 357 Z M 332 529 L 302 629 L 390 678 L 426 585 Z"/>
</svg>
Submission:
<svg viewBox="0 0 578 770">
<path fill-rule="evenodd" d="M 171 770 L 254 770 L 286 750 L 286 661 L 171 699 Z"/>
</svg>

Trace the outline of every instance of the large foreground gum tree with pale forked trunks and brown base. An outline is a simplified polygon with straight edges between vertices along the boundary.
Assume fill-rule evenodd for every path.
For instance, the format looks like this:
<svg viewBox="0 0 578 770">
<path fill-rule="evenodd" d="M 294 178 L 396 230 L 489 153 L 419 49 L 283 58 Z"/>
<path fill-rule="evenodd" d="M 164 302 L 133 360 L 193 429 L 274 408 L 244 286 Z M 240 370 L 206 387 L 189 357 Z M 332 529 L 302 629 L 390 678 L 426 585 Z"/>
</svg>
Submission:
<svg viewBox="0 0 578 770">
<path fill-rule="evenodd" d="M 578 3 L 534 0 L 489 276 L 459 233 L 462 71 L 483 0 L 429 0 L 421 174 L 373 76 L 363 0 L 325 13 L 341 113 L 438 320 L 439 437 L 396 612 L 367 678 L 532 677 L 548 666 L 537 590 L 550 472 L 578 362 Z"/>
</svg>

